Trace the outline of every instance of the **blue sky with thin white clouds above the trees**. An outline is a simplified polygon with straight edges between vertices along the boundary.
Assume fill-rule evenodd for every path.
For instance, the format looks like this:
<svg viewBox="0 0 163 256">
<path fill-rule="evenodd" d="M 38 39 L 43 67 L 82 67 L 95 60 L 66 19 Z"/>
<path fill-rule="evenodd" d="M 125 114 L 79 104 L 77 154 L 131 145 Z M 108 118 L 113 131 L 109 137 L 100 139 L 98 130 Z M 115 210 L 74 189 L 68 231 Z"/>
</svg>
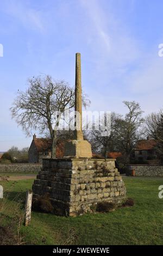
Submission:
<svg viewBox="0 0 163 256">
<path fill-rule="evenodd" d="M 27 78 L 41 74 L 74 85 L 75 53 L 90 110 L 124 114 L 123 100 L 145 113 L 163 107 L 162 0 L 1 0 L 0 151 L 28 147 L 9 107 Z"/>
</svg>

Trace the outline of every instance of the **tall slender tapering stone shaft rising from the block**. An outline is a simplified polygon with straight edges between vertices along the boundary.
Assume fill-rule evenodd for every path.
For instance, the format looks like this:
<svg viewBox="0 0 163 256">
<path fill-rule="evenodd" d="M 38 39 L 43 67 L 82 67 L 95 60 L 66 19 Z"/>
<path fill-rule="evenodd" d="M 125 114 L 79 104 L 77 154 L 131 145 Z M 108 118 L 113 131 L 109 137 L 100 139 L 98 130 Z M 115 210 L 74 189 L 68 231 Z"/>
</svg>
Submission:
<svg viewBox="0 0 163 256">
<path fill-rule="evenodd" d="M 81 78 L 81 57 L 76 53 L 76 88 L 75 88 L 75 111 L 78 112 L 79 130 L 74 130 L 74 139 L 83 140 L 82 132 L 82 78 Z M 77 126 L 78 127 L 78 126 Z"/>
</svg>

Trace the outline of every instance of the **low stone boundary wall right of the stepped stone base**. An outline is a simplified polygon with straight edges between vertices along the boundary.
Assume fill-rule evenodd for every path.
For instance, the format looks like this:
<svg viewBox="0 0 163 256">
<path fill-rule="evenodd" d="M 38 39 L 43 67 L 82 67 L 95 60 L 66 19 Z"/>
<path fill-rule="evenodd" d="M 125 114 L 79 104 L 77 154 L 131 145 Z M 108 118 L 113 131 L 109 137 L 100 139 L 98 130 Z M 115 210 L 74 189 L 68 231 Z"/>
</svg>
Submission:
<svg viewBox="0 0 163 256">
<path fill-rule="evenodd" d="M 133 170 L 135 170 L 135 176 L 163 177 L 163 166 L 149 164 L 128 164 L 126 175 L 132 175 Z"/>
</svg>

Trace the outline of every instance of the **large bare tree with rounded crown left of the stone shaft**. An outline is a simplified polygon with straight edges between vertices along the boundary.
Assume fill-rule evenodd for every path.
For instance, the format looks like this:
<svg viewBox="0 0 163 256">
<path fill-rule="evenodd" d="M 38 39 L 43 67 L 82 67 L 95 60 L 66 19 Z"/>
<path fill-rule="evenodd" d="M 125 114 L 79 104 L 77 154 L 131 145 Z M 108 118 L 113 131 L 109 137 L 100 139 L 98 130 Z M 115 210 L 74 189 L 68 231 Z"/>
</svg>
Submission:
<svg viewBox="0 0 163 256">
<path fill-rule="evenodd" d="M 29 78 L 26 92 L 18 91 L 11 110 L 12 118 L 21 125 L 27 135 L 33 130 L 40 134 L 49 131 L 52 138 L 52 158 L 56 157 L 57 127 L 60 115 L 74 106 L 74 90 L 65 81 L 53 81 L 52 77 Z"/>
</svg>

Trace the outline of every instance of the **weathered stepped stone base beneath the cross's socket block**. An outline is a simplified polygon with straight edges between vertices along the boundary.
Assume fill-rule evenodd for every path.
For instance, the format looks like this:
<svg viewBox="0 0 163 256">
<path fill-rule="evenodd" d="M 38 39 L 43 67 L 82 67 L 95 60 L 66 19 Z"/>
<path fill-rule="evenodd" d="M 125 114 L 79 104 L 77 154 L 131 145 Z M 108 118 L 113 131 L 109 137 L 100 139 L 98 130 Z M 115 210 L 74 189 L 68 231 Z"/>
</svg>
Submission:
<svg viewBox="0 0 163 256">
<path fill-rule="evenodd" d="M 45 159 L 33 184 L 34 199 L 47 192 L 55 214 L 77 216 L 99 202 L 122 204 L 126 187 L 114 159 Z"/>
</svg>

